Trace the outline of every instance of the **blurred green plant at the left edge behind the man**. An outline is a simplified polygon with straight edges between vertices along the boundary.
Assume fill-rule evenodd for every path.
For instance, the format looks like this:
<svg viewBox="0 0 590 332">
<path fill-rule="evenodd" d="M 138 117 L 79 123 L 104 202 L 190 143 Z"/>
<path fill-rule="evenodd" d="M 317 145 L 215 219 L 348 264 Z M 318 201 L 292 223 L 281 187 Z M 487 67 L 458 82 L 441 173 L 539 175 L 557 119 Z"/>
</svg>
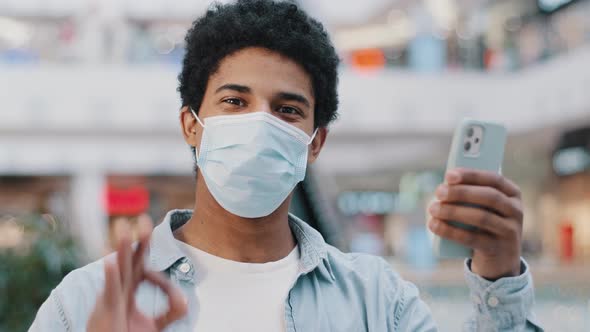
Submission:
<svg viewBox="0 0 590 332">
<path fill-rule="evenodd" d="M 0 218 L 0 331 L 26 331 L 78 257 L 71 236 L 50 217 Z"/>
</svg>

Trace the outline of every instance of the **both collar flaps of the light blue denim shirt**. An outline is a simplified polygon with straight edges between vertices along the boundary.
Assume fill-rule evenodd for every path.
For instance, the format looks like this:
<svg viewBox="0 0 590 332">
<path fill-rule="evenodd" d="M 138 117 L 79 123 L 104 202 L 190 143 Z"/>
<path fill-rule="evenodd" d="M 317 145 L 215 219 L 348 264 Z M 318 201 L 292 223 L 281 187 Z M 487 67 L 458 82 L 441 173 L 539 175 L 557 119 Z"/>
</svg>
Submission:
<svg viewBox="0 0 590 332">
<path fill-rule="evenodd" d="M 150 240 L 148 259 L 150 269 L 165 271 L 178 261 L 188 259 L 175 243 L 172 232 L 186 224 L 192 214 L 192 210 L 172 210 L 156 226 Z M 301 272 L 306 274 L 317 268 L 327 279 L 334 280 L 327 257 L 327 244 L 322 235 L 292 214 L 289 214 L 289 226 L 299 245 Z"/>
</svg>

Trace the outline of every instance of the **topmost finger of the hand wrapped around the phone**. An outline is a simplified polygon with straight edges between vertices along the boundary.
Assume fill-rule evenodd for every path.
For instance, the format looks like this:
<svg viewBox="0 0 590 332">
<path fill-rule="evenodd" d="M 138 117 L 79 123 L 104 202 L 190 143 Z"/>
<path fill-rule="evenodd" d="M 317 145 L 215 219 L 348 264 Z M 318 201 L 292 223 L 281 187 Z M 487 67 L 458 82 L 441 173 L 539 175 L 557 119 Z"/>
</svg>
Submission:
<svg viewBox="0 0 590 332">
<path fill-rule="evenodd" d="M 447 172 L 445 180 L 448 184 L 469 184 L 493 187 L 508 197 L 520 197 L 520 189 L 506 177 L 490 171 L 468 168 L 456 168 Z"/>
</svg>

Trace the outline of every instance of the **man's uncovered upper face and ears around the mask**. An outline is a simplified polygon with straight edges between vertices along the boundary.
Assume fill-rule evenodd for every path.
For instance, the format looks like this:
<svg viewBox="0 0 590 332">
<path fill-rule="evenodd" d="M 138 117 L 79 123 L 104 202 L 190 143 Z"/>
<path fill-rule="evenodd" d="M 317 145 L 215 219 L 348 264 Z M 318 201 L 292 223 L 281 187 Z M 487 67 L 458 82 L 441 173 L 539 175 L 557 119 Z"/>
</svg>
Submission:
<svg viewBox="0 0 590 332">
<path fill-rule="evenodd" d="M 303 130 L 314 131 L 312 82 L 294 61 L 264 48 L 245 48 L 225 57 L 211 75 L 198 111 L 199 118 L 217 115 L 266 112 Z M 201 144 L 203 128 L 187 107 L 181 121 L 188 144 Z M 327 131 L 320 128 L 310 145 L 308 162 L 315 161 L 325 142 Z"/>
</svg>

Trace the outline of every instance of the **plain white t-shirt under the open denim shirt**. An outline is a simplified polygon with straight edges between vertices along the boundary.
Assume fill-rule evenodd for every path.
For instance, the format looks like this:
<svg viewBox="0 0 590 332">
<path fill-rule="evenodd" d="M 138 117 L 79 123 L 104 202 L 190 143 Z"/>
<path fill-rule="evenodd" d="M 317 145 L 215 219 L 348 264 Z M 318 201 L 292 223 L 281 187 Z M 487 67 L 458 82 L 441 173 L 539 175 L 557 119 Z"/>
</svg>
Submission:
<svg viewBox="0 0 590 332">
<path fill-rule="evenodd" d="M 285 331 L 285 301 L 295 282 L 299 248 L 269 263 L 242 263 L 178 246 L 196 269 L 197 332 Z"/>
</svg>

